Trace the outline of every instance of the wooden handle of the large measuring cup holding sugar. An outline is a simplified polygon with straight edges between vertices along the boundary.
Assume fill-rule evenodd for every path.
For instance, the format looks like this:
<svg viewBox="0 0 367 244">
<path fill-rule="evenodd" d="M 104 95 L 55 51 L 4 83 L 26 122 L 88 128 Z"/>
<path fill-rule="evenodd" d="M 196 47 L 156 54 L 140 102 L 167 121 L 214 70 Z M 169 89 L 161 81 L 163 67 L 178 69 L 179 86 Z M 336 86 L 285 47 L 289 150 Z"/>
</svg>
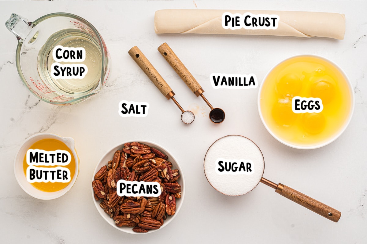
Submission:
<svg viewBox="0 0 367 244">
<path fill-rule="evenodd" d="M 341 216 L 341 213 L 338 210 L 333 209 L 332 207 L 329 207 L 313 198 L 310 198 L 309 196 L 306 196 L 295 189 L 287 187 L 286 185 L 279 183 L 278 187 L 275 189 L 275 192 L 317 214 L 320 214 L 327 219 L 330 219 L 331 221 L 338 222 Z"/>
</svg>

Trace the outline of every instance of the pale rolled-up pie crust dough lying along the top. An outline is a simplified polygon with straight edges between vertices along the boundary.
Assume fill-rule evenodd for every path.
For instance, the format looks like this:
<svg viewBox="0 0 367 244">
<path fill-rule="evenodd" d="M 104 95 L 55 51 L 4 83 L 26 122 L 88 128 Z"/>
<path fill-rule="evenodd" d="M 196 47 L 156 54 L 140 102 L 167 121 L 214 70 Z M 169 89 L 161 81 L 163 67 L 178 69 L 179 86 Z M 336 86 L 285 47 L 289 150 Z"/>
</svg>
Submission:
<svg viewBox="0 0 367 244">
<path fill-rule="evenodd" d="M 222 14 L 279 15 L 275 30 L 231 30 L 222 27 Z M 260 10 L 158 10 L 154 28 L 157 34 L 235 34 L 235 35 L 281 35 L 291 37 L 329 37 L 342 40 L 345 33 L 345 15 L 325 12 L 260 11 Z"/>
</svg>

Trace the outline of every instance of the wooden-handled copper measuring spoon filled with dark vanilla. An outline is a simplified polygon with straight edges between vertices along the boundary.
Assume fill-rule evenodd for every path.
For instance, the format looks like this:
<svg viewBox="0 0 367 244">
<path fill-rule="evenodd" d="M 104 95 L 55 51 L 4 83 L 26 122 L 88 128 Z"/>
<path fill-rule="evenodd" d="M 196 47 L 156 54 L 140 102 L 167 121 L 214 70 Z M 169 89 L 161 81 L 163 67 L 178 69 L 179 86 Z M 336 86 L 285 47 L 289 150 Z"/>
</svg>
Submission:
<svg viewBox="0 0 367 244">
<path fill-rule="evenodd" d="M 192 76 L 189 70 L 183 65 L 181 60 L 172 51 L 170 46 L 166 42 L 159 46 L 158 51 L 167 60 L 171 67 L 176 71 L 176 73 L 181 77 L 181 79 L 186 83 L 186 85 L 192 90 L 196 97 L 201 97 L 204 99 L 206 104 L 209 106 L 210 113 L 209 118 L 214 124 L 220 124 L 226 117 L 224 111 L 221 108 L 213 108 L 209 101 L 203 95 L 203 88 L 199 85 L 199 82 Z"/>
</svg>

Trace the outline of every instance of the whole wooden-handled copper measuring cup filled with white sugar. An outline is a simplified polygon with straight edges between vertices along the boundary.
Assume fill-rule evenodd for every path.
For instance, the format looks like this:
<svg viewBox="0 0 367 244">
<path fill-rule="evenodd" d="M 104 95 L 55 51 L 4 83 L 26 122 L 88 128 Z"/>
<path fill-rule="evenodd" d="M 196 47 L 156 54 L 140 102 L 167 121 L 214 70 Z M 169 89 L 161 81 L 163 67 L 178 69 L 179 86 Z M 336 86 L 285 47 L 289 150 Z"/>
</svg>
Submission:
<svg viewBox="0 0 367 244">
<path fill-rule="evenodd" d="M 242 168 L 240 166 L 241 161 L 245 162 Z M 233 165 L 234 162 L 237 162 L 235 166 Z M 250 165 L 247 165 L 248 162 Z M 274 188 L 276 193 L 285 198 L 331 221 L 338 222 L 341 216 L 338 210 L 286 185 L 275 184 L 265 179 L 262 177 L 264 168 L 265 161 L 259 147 L 252 140 L 240 135 L 228 135 L 219 138 L 209 147 L 204 158 L 205 176 L 211 186 L 222 194 L 229 196 L 244 195 L 252 191 L 261 182 Z"/>
</svg>

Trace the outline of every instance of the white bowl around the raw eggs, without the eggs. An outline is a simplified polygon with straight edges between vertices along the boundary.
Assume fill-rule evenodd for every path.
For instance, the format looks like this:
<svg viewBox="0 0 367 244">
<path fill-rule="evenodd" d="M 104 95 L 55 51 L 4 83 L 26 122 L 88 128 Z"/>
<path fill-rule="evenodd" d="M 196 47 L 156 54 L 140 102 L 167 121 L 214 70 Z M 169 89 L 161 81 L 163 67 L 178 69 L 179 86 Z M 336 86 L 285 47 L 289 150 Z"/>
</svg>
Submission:
<svg viewBox="0 0 367 244">
<path fill-rule="evenodd" d="M 344 122 L 344 125 L 341 129 L 339 129 L 338 132 L 335 132 L 335 134 L 333 136 L 331 136 L 328 140 L 324 141 L 324 142 L 321 142 L 321 143 L 318 143 L 318 144 L 315 144 L 315 145 L 312 145 L 312 146 L 300 146 L 300 145 L 296 145 L 296 144 L 292 144 L 292 143 L 289 143 L 289 142 L 286 142 L 284 140 L 282 140 L 281 138 L 279 138 L 269 127 L 268 125 L 266 124 L 266 121 L 264 120 L 264 117 L 262 116 L 262 112 L 261 112 L 261 108 L 260 108 L 260 98 L 261 98 L 261 91 L 262 91 L 262 87 L 264 85 L 264 82 L 266 80 L 266 78 L 268 78 L 270 72 L 272 72 L 278 65 L 280 65 L 281 63 L 283 63 L 284 61 L 287 61 L 289 59 L 293 59 L 295 57 L 315 57 L 317 59 L 321 59 L 321 60 L 324 60 L 326 61 L 327 63 L 330 63 L 331 65 L 333 65 L 343 76 L 344 76 L 344 79 L 348 85 L 348 88 L 349 88 L 349 93 L 350 93 L 350 110 L 349 110 L 349 114 L 348 114 L 348 118 L 345 120 Z M 336 140 L 344 131 L 345 129 L 348 127 L 349 125 L 349 122 L 350 120 L 352 119 L 352 115 L 353 115 L 353 111 L 354 111 L 354 106 L 355 106 L 355 98 L 354 98 L 354 91 L 353 91 L 353 87 L 352 87 L 352 83 L 350 83 L 350 80 L 348 79 L 348 76 L 345 74 L 345 72 L 342 70 L 341 67 L 339 67 L 339 65 L 335 64 L 333 61 L 331 61 L 330 59 L 327 59 L 326 57 L 322 57 L 322 56 L 319 56 L 319 55 L 314 55 L 314 54 L 300 54 L 300 55 L 294 55 L 294 56 L 291 56 L 291 57 L 288 57 L 287 59 L 284 59 L 282 61 L 280 61 L 279 63 L 277 63 L 276 65 L 274 65 L 270 70 L 269 72 L 265 75 L 264 79 L 262 80 L 262 83 L 260 85 L 260 88 L 259 88 L 259 93 L 258 93 L 258 99 L 257 99 L 257 106 L 258 106 L 258 111 L 259 111 L 259 115 L 260 115 L 260 118 L 261 118 L 261 121 L 262 123 L 264 124 L 266 130 L 275 138 L 277 139 L 279 142 L 287 145 L 287 146 L 290 146 L 290 147 L 293 147 L 293 148 L 296 148 L 296 149 L 316 149 L 316 148 L 319 148 L 319 147 L 323 147 L 323 146 L 326 146 L 327 144 L 330 144 L 331 142 L 333 142 L 334 140 Z"/>
</svg>

